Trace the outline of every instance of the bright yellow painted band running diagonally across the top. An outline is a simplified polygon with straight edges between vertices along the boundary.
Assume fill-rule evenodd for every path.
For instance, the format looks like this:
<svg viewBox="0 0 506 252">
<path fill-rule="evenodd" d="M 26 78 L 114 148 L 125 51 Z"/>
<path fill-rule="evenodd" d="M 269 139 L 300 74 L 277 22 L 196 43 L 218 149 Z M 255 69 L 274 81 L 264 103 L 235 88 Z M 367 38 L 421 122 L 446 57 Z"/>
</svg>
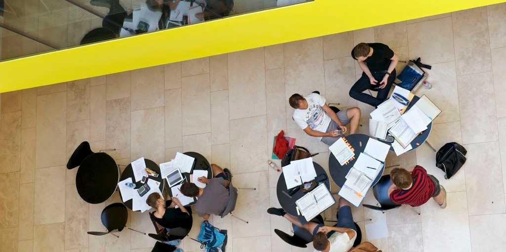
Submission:
<svg viewBox="0 0 506 252">
<path fill-rule="evenodd" d="M 0 62 L 0 92 L 241 51 L 506 2 L 315 0 Z"/>
</svg>

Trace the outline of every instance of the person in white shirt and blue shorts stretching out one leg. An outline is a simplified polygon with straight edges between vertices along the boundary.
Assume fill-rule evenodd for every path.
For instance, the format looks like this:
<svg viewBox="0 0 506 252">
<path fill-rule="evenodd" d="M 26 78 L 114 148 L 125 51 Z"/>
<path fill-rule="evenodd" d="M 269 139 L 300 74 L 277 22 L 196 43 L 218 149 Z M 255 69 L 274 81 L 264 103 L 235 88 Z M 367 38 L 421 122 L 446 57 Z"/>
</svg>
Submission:
<svg viewBox="0 0 506 252">
<path fill-rule="evenodd" d="M 353 222 L 350 203 L 339 199 L 338 223 L 335 226 L 325 226 L 314 222 L 302 224 L 297 217 L 287 214 L 281 208 L 269 208 L 267 213 L 282 216 L 297 228 L 304 228 L 313 234 L 313 246 L 317 251 L 323 252 L 347 252 L 353 247 L 357 238 L 357 227 Z"/>
</svg>

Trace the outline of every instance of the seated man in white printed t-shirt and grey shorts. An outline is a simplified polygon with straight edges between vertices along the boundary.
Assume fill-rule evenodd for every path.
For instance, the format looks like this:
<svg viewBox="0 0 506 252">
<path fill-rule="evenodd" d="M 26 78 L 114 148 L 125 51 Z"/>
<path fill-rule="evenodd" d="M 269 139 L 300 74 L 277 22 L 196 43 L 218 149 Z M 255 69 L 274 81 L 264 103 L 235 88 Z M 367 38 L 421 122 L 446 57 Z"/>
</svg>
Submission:
<svg viewBox="0 0 506 252">
<path fill-rule="evenodd" d="M 295 109 L 293 120 L 308 135 L 318 137 L 323 143 L 332 145 L 339 137 L 348 131 L 345 127 L 350 124 L 350 134 L 355 134 L 360 120 L 360 109 L 353 107 L 337 114 L 325 103 L 319 93 L 313 92 L 306 96 L 294 93 L 288 103 Z M 338 130 L 343 130 L 339 133 Z"/>
</svg>

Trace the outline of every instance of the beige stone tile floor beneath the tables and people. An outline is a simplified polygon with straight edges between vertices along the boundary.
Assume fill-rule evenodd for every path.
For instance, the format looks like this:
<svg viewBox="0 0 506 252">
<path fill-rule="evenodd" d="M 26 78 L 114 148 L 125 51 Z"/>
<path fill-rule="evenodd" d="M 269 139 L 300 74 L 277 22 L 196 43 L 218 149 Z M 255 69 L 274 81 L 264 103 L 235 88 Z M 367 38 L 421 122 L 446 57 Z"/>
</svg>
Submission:
<svg viewBox="0 0 506 252">
<path fill-rule="evenodd" d="M 402 59 L 420 56 L 432 64 L 432 89 L 420 88 L 443 109 L 429 140 L 439 148 L 457 141 L 468 162 L 450 180 L 435 167 L 423 145 L 389 164 L 420 164 L 448 191 L 448 208 L 430 201 L 386 214 L 388 238 L 373 240 L 383 251 L 499 251 L 506 243 L 506 4 L 410 20 L 244 52 L 4 93 L 0 120 L 0 251 L 150 251 L 154 241 L 129 230 L 89 236 L 101 230 L 102 209 L 120 200 L 88 205 L 76 193 L 75 171 L 64 165 L 81 141 L 93 150 L 116 148 L 118 164 L 146 157 L 168 161 L 195 151 L 230 167 L 240 191 L 236 215 L 213 218 L 229 230 L 227 251 L 311 251 L 290 247 L 273 232 L 290 232 L 281 218 L 265 213 L 279 206 L 278 174 L 268 168 L 279 130 L 320 152 L 328 171 L 328 150 L 292 122 L 286 99 L 293 92 L 319 90 L 341 107 L 359 106 L 367 132 L 371 108 L 350 99 L 360 71 L 349 52 L 360 41 L 381 41 Z M 4 47 L 4 52 L 9 48 Z M 399 66 L 401 69 L 403 66 Z M 278 163 L 279 164 L 279 163 Z M 332 191 L 337 191 L 332 186 Z M 374 204 L 372 194 L 364 200 Z M 382 213 L 354 209 L 356 221 Z M 325 213 L 335 218 L 335 207 Z M 131 226 L 153 232 L 147 214 L 130 213 Z M 195 216 L 195 237 L 201 220 Z M 364 230 L 364 222 L 361 222 Z M 364 236 L 365 237 L 365 236 Z M 310 245 L 311 246 L 311 245 Z M 200 251 L 185 239 L 185 251 Z"/>
</svg>

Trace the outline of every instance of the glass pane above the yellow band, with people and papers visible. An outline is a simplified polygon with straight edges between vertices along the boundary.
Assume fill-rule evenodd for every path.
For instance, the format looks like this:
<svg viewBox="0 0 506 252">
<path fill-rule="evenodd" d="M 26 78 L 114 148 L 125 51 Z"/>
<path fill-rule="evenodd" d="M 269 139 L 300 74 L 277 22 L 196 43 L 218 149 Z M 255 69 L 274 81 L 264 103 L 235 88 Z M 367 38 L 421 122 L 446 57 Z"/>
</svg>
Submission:
<svg viewBox="0 0 506 252">
<path fill-rule="evenodd" d="M 312 0 L 0 0 L 0 60 Z"/>
</svg>

